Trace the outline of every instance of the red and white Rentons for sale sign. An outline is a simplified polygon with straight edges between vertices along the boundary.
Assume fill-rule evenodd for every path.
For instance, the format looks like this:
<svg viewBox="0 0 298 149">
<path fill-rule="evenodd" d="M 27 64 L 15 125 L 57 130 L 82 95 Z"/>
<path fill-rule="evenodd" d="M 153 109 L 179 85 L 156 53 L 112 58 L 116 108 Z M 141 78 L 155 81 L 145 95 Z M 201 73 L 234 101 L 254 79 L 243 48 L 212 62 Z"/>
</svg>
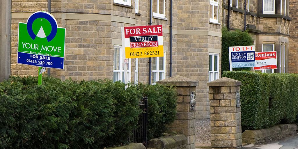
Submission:
<svg viewBox="0 0 298 149">
<path fill-rule="evenodd" d="M 256 52 L 256 66 L 254 70 L 277 69 L 276 51 Z"/>
</svg>

